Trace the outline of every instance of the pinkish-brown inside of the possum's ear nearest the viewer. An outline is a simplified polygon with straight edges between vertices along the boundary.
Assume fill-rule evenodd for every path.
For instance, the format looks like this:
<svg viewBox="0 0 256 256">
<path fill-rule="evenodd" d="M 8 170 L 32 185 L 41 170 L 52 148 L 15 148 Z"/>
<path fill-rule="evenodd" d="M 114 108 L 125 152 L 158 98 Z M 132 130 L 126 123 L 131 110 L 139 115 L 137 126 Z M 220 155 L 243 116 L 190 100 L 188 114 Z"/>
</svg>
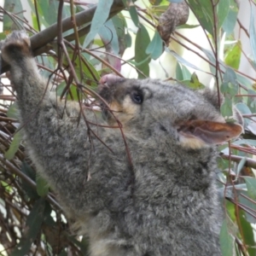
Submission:
<svg viewBox="0 0 256 256">
<path fill-rule="evenodd" d="M 218 123 L 208 120 L 189 120 L 177 129 L 183 137 L 198 138 L 207 144 L 219 144 L 238 137 L 242 126 L 231 123 Z"/>
</svg>

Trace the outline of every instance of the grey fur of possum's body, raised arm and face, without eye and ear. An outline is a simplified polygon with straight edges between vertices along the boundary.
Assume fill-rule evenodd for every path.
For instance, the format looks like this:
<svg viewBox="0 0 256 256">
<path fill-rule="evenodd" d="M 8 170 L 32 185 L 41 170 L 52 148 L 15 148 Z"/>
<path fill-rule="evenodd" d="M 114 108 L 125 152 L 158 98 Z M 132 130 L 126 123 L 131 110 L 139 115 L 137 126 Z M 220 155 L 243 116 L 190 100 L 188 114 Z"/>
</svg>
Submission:
<svg viewBox="0 0 256 256">
<path fill-rule="evenodd" d="M 212 93 L 153 79 L 107 78 L 100 94 L 119 106 L 130 161 L 118 128 L 90 125 L 112 152 L 91 132 L 90 142 L 84 121 L 78 125 L 79 105 L 67 102 L 65 109 L 46 89 L 24 32 L 3 42 L 2 56 L 11 67 L 26 148 L 89 237 L 91 256 L 221 254 L 215 146 L 184 147 L 177 132 L 183 120 L 222 120 Z M 138 91 L 143 104 L 132 100 Z M 103 112 L 101 119 L 84 110 L 92 122 L 116 125 Z"/>
</svg>

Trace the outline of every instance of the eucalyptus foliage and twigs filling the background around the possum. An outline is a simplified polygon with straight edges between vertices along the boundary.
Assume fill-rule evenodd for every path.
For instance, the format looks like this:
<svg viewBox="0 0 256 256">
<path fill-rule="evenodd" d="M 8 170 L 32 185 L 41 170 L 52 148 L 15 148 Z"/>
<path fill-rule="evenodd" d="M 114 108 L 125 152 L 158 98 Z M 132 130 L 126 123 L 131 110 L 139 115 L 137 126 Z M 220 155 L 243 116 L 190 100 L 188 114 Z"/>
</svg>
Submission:
<svg viewBox="0 0 256 256">
<path fill-rule="evenodd" d="M 253 256 L 256 3 L 186 0 L 189 21 L 176 27 L 166 46 L 156 26 L 170 2 L 181 1 L 5 0 L 0 6 L 0 38 L 15 29 L 26 29 L 32 37 L 40 72 L 52 80 L 53 90 L 63 100 L 89 99 L 94 104 L 97 81 L 102 74 L 111 72 L 125 77 L 178 81 L 193 89 L 207 85 L 219 90 L 224 95 L 220 108 L 224 117 L 230 119 L 235 104 L 243 115 L 245 130 L 236 142 L 219 146 L 217 179 L 224 208 L 222 253 Z M 239 13 L 245 6 L 247 15 L 241 20 Z M 1 73 L 7 70 L 2 63 Z M 54 193 L 27 158 L 15 93 L 4 78 L 3 74 L 0 255 L 86 255 L 86 237 L 75 236 L 69 230 Z"/>
</svg>

